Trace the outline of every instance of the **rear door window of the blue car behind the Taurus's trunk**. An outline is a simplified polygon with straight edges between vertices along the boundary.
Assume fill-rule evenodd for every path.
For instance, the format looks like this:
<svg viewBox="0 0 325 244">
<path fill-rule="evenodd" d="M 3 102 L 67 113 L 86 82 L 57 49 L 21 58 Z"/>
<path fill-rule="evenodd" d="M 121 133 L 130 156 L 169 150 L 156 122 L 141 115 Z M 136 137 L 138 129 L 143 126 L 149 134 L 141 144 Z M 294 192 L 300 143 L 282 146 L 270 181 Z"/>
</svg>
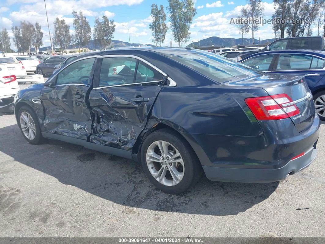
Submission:
<svg viewBox="0 0 325 244">
<path fill-rule="evenodd" d="M 312 56 L 302 54 L 280 54 L 276 70 L 309 69 Z"/>
</svg>

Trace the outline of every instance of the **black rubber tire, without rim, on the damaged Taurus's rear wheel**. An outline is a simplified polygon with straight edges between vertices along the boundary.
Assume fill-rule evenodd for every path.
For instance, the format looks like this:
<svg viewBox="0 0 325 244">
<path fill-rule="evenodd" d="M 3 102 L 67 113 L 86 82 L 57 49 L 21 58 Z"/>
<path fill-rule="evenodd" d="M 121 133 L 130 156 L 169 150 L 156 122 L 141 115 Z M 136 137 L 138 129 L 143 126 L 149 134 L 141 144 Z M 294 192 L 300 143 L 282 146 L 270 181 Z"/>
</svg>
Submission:
<svg viewBox="0 0 325 244">
<path fill-rule="evenodd" d="M 184 176 L 174 186 L 166 186 L 158 182 L 150 173 L 146 162 L 147 150 L 154 141 L 163 140 L 171 143 L 181 154 L 184 162 Z M 152 184 L 159 190 L 169 194 L 180 194 L 191 188 L 202 176 L 202 166 L 188 142 L 171 129 L 163 128 L 152 132 L 147 136 L 141 146 L 141 163 L 143 170 Z"/>
</svg>

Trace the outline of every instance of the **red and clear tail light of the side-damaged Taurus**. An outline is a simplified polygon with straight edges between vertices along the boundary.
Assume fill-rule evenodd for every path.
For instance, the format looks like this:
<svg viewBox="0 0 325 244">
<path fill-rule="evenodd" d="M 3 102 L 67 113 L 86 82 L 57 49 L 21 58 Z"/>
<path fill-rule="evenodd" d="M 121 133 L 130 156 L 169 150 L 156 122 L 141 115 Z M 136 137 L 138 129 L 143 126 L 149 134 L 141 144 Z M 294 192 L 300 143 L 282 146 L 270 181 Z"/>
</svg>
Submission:
<svg viewBox="0 0 325 244">
<path fill-rule="evenodd" d="M 283 104 L 292 102 L 287 94 L 246 98 L 245 103 L 257 120 L 280 120 L 300 113 L 296 105 L 289 107 Z"/>
</svg>

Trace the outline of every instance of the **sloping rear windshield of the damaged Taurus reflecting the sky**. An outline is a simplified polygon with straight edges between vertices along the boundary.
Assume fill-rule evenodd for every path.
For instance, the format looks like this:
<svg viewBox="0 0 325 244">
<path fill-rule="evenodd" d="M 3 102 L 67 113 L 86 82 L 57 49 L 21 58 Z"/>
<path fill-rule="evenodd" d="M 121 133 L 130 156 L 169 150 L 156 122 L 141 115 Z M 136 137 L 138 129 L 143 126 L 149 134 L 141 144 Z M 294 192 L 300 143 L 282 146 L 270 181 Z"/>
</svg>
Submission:
<svg viewBox="0 0 325 244">
<path fill-rule="evenodd" d="M 184 54 L 170 58 L 217 82 L 238 80 L 263 74 L 231 59 L 210 53 Z"/>
</svg>

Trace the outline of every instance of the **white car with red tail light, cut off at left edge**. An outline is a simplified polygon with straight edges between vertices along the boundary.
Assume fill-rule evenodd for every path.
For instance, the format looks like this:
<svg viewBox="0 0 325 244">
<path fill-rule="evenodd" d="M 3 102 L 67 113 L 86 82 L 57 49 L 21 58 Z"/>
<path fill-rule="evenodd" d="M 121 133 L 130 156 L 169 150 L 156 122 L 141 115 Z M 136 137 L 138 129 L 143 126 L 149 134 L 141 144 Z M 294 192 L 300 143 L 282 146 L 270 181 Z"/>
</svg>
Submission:
<svg viewBox="0 0 325 244">
<path fill-rule="evenodd" d="M 13 101 L 19 85 L 15 75 L 0 77 L 0 111 L 13 112 Z"/>
</svg>

